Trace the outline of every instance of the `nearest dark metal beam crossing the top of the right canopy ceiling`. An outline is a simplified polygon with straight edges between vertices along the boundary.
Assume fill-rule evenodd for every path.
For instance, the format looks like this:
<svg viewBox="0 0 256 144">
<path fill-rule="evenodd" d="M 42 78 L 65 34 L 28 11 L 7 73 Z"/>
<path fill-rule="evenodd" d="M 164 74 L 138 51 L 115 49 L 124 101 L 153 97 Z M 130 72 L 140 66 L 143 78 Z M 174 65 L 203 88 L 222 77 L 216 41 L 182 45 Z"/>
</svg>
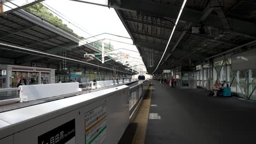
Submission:
<svg viewBox="0 0 256 144">
<path fill-rule="evenodd" d="M 118 2 L 119 1 L 110 0 L 109 7 L 126 11 L 147 11 L 153 14 L 164 15 L 170 17 L 171 19 L 177 19 L 177 15 L 180 9 L 180 7 L 177 7 L 176 5 L 162 4 L 153 1 L 123 0 L 121 1 L 121 4 Z M 180 20 L 198 23 L 200 22 L 201 16 L 202 13 L 199 10 L 184 8 Z M 255 35 L 256 25 L 254 22 L 238 20 L 231 17 L 227 17 L 226 19 L 229 23 L 232 23 L 233 32 Z M 222 29 L 222 21 L 220 21 L 219 16 L 216 14 L 209 14 L 203 23 L 207 26 Z"/>
</svg>

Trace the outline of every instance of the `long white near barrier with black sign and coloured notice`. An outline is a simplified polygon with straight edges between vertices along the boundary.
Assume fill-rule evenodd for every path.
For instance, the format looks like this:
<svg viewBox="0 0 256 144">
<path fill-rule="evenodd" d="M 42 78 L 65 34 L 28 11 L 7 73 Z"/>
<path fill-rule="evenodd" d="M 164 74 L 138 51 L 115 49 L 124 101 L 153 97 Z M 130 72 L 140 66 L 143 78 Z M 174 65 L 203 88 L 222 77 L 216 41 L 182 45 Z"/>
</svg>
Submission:
<svg viewBox="0 0 256 144">
<path fill-rule="evenodd" d="M 117 144 L 129 124 L 128 95 L 119 86 L 2 112 L 0 142 Z"/>
</svg>

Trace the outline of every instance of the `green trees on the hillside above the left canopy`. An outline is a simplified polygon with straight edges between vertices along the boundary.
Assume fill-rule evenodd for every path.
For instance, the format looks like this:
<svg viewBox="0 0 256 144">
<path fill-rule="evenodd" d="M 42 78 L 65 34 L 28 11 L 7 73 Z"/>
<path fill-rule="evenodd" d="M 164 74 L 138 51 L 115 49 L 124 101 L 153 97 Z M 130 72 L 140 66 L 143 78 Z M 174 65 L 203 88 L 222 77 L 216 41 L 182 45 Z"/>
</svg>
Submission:
<svg viewBox="0 0 256 144">
<path fill-rule="evenodd" d="M 40 19 L 51 23 L 55 27 L 58 27 L 63 31 L 66 31 L 79 39 L 84 39 L 83 37 L 79 37 L 79 35 L 75 34 L 71 28 L 69 28 L 66 24 L 62 22 L 61 19 L 59 19 L 59 17 L 54 16 L 53 13 L 51 13 L 51 11 L 49 11 L 46 7 L 44 7 L 42 3 L 37 3 L 34 5 L 31 5 L 30 7 L 27 7 L 26 11 L 40 17 Z"/>
</svg>

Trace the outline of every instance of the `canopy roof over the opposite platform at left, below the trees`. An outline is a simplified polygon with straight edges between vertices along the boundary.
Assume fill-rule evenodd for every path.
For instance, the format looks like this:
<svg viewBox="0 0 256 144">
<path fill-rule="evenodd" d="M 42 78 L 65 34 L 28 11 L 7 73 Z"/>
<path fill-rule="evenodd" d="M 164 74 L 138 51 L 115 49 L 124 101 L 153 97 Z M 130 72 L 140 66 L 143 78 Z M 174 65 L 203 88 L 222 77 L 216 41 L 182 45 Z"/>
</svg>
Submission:
<svg viewBox="0 0 256 144">
<path fill-rule="evenodd" d="M 120 71 L 126 71 L 125 68 L 127 68 L 123 63 L 115 62 L 115 59 L 104 64 L 98 62 L 95 58 L 93 61 L 88 61 L 89 58 L 84 58 L 84 53 L 101 53 L 100 50 L 89 44 L 90 41 L 79 39 L 22 9 L 0 16 L 0 43 L 73 58 Z M 101 59 L 101 56 L 97 57 Z M 109 58 L 112 57 L 106 57 L 106 59 Z M 0 59 L 2 64 L 17 65 L 27 65 L 31 62 L 59 65 L 63 61 L 63 58 L 16 49 L 6 45 L 0 45 Z M 69 60 L 67 60 L 67 63 L 67 67 L 78 67 L 78 65 L 83 64 Z M 97 69 L 95 66 L 85 65 L 86 69 Z M 126 72 L 130 73 L 131 71 Z"/>
</svg>

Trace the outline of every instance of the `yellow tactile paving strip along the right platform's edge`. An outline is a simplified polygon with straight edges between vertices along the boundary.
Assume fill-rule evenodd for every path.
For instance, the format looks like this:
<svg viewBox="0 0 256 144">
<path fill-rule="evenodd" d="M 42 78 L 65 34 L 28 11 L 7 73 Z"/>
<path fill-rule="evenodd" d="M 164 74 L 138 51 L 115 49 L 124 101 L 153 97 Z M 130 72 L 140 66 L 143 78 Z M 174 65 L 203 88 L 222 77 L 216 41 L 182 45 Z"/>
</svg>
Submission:
<svg viewBox="0 0 256 144">
<path fill-rule="evenodd" d="M 135 132 L 135 136 L 132 139 L 132 144 L 144 144 L 147 125 L 148 125 L 148 116 L 149 116 L 149 107 L 151 101 L 152 86 L 149 87 L 148 97 L 143 100 L 141 107 L 133 119 L 132 123 L 137 123 L 138 127 Z"/>
</svg>

